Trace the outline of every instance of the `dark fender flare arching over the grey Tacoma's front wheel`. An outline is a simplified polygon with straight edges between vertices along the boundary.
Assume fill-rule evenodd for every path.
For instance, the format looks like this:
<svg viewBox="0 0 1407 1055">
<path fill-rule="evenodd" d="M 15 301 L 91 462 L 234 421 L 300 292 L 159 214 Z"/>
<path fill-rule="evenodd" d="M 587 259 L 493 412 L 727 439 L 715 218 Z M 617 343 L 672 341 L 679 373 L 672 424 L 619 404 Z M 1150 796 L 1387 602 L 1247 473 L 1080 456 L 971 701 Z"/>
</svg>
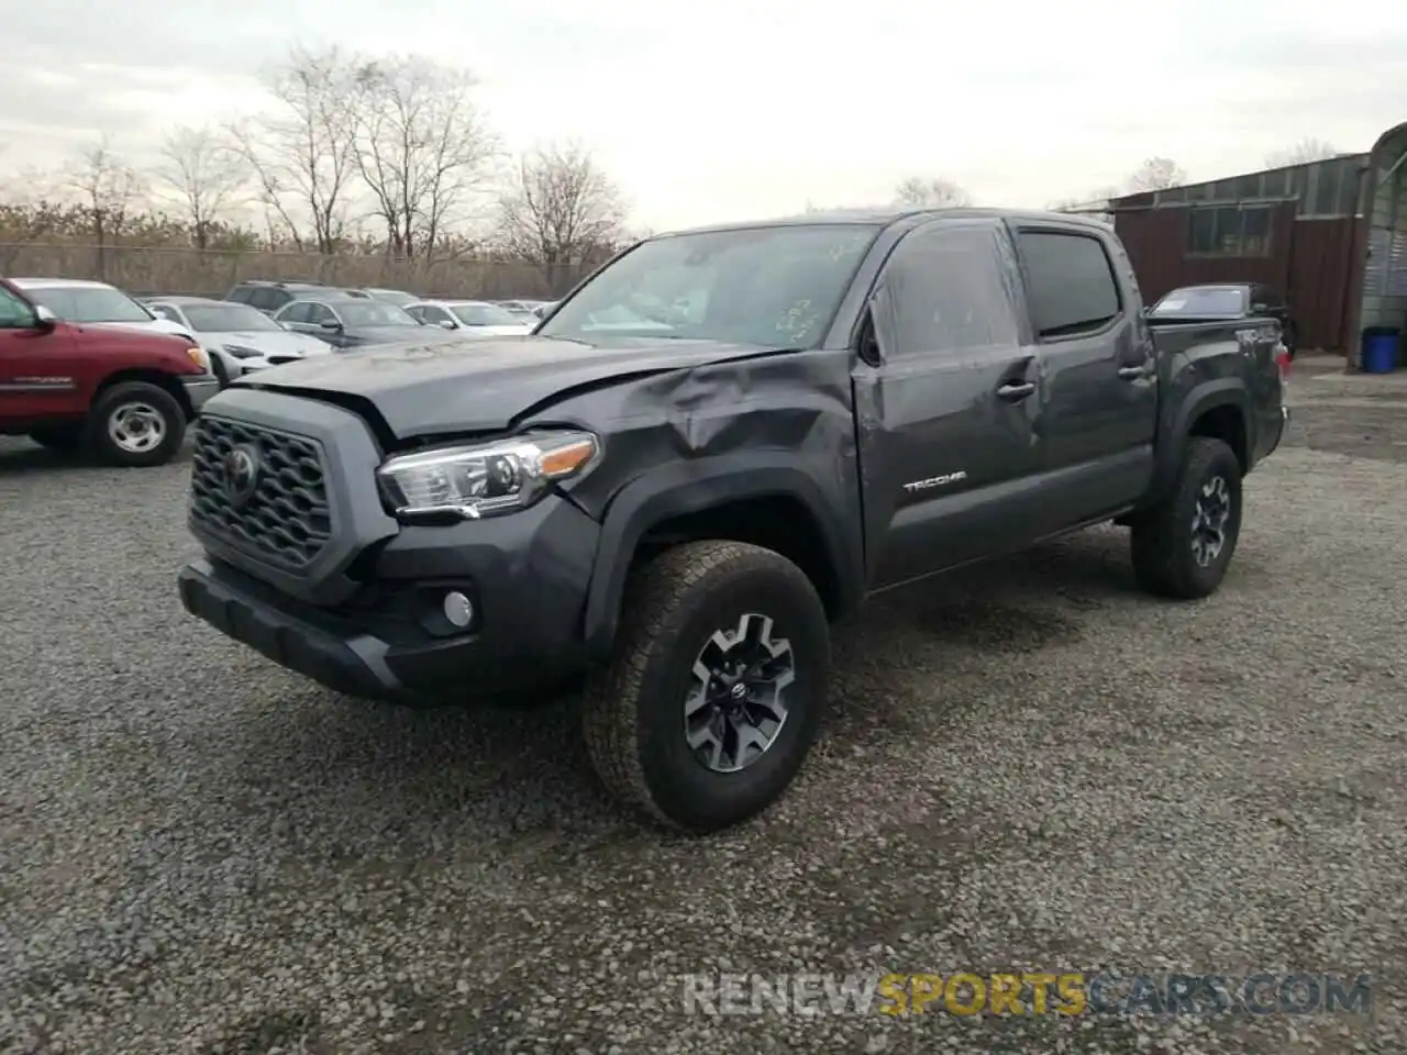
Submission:
<svg viewBox="0 0 1407 1055">
<path fill-rule="evenodd" d="M 597 570 L 587 589 L 582 637 L 595 656 L 609 653 L 620 616 L 626 575 L 640 539 L 661 520 L 698 513 L 749 498 L 799 501 L 815 520 L 830 564 L 840 610 L 862 592 L 858 551 L 846 549 L 839 526 L 844 515 L 815 478 L 787 452 L 746 452 L 701 461 L 660 466 L 623 487 L 601 525 Z M 858 526 L 855 528 L 858 532 Z"/>
</svg>

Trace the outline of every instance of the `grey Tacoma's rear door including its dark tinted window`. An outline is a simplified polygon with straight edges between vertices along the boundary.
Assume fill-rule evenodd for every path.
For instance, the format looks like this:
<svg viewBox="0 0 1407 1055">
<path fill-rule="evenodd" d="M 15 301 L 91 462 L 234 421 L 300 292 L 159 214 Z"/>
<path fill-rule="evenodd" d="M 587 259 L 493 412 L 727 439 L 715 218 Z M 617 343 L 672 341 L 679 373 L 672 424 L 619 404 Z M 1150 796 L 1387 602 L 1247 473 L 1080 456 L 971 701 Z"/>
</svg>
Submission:
<svg viewBox="0 0 1407 1055">
<path fill-rule="evenodd" d="M 1083 224 L 1016 222 L 1030 325 L 1044 364 L 1043 535 L 1119 512 L 1152 474 L 1158 370 L 1123 248 Z"/>
</svg>

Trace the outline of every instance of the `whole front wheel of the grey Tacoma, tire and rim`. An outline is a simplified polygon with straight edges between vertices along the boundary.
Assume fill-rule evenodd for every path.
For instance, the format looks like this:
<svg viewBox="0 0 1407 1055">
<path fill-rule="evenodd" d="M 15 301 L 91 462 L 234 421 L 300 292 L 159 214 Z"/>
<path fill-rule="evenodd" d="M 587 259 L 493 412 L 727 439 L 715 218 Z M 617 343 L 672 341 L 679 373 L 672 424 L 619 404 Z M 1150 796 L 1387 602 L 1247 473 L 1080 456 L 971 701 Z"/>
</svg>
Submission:
<svg viewBox="0 0 1407 1055">
<path fill-rule="evenodd" d="M 830 671 L 826 610 L 785 557 L 677 546 L 632 573 L 613 660 L 584 693 L 606 789 L 695 834 L 746 820 L 792 782 Z"/>
</svg>

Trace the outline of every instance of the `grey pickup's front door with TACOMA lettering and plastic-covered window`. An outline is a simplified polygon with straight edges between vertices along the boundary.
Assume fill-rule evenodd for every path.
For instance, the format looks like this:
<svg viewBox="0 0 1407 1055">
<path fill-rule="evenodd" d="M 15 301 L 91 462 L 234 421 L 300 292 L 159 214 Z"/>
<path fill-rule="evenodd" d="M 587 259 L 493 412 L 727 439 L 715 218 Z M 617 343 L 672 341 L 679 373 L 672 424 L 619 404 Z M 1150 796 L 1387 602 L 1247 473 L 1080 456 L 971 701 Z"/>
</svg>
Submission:
<svg viewBox="0 0 1407 1055">
<path fill-rule="evenodd" d="M 879 274 L 853 376 L 872 589 L 1029 535 L 1040 350 L 1019 295 L 996 219 L 920 226 Z"/>
</svg>

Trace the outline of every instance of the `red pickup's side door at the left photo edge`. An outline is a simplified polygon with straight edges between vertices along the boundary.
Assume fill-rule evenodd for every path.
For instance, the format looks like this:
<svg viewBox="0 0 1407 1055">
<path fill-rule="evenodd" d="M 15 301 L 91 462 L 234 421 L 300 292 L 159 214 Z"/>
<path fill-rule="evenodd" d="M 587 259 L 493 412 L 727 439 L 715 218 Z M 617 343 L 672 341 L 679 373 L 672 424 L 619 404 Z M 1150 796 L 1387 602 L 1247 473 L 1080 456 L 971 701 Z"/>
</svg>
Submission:
<svg viewBox="0 0 1407 1055">
<path fill-rule="evenodd" d="M 0 421 L 79 416 L 87 408 L 75 331 L 42 329 L 34 308 L 0 286 Z"/>
</svg>

